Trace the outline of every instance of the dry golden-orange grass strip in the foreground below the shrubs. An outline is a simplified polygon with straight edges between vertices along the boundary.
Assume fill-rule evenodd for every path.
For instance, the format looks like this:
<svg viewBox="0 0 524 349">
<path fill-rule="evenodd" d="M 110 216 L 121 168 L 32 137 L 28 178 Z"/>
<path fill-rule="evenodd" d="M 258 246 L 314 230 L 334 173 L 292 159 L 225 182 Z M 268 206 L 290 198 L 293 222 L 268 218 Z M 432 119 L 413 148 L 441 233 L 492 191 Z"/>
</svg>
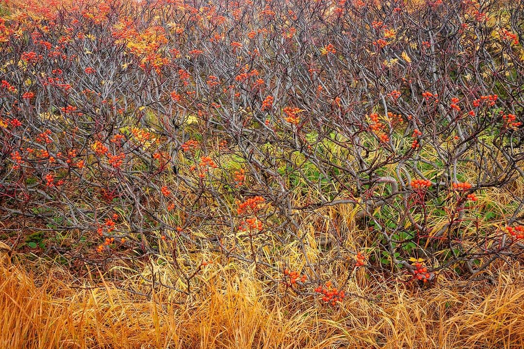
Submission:
<svg viewBox="0 0 524 349">
<path fill-rule="evenodd" d="M 0 347 L 30 348 L 521 348 L 524 273 L 501 271 L 493 287 L 428 290 L 358 276 L 337 309 L 312 298 L 270 294 L 253 271 L 213 265 L 193 297 L 161 288 L 149 299 L 110 285 L 71 287 L 3 258 Z"/>
</svg>

